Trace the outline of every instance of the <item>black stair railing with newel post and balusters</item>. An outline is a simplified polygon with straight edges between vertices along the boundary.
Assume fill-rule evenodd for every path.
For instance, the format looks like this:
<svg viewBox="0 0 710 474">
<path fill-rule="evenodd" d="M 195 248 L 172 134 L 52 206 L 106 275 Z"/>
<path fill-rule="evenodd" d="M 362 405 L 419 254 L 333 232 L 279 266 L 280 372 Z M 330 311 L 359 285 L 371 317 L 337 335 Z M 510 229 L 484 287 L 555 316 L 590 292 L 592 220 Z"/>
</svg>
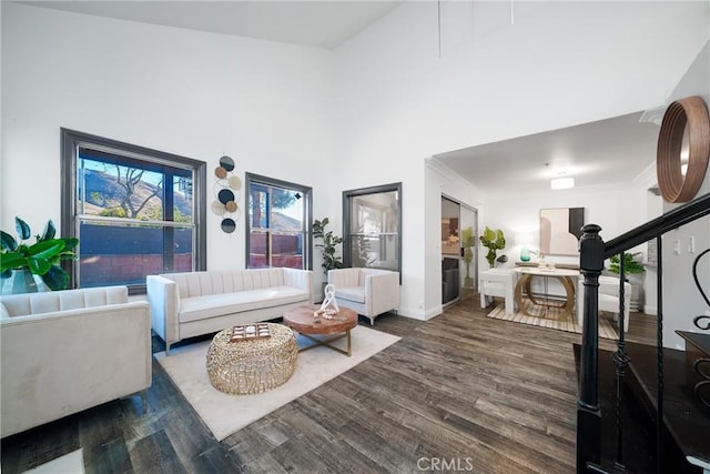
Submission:
<svg viewBox="0 0 710 474">
<path fill-rule="evenodd" d="M 625 314 L 623 297 L 623 252 L 650 240 L 658 245 L 658 324 L 657 324 L 657 470 L 662 466 L 661 453 L 663 446 L 661 428 L 663 420 L 663 304 L 662 304 L 662 235 L 667 232 L 693 222 L 710 214 L 710 193 L 702 195 L 687 204 L 680 205 L 663 215 L 653 219 L 638 228 L 619 235 L 609 242 L 604 242 L 597 224 L 582 228 L 579 240 L 579 268 L 585 286 L 584 324 L 581 335 L 581 352 L 579 367 L 579 394 L 577 400 L 577 472 L 605 472 L 601 467 L 601 411 L 598 400 L 598 359 L 599 359 L 599 275 L 604 270 L 605 260 L 612 255 L 620 255 L 619 274 L 619 341 L 612 360 L 617 366 L 617 453 L 615 471 L 623 472 L 623 430 L 621 421 L 622 387 L 629 357 L 626 354 L 623 335 Z"/>
</svg>

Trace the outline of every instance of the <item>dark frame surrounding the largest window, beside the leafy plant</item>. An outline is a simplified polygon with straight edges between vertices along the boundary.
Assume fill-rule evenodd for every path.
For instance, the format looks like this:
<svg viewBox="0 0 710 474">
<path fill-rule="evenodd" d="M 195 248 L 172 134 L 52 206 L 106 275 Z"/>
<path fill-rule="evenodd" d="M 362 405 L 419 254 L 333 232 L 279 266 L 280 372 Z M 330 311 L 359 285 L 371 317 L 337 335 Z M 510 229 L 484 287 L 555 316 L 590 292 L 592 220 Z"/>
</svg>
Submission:
<svg viewBox="0 0 710 474">
<path fill-rule="evenodd" d="M 193 271 L 206 270 L 207 263 L 207 232 L 206 232 L 206 168 L 207 163 L 192 158 L 181 157 L 146 147 L 135 145 L 118 140 L 98 137 L 61 128 L 61 229 L 65 236 L 78 236 L 79 216 L 77 210 L 77 158 L 79 148 L 98 148 L 115 152 L 141 163 L 158 163 L 175 168 L 190 168 L 193 172 Z M 171 218 L 166 215 L 166 218 Z M 79 242 L 81 251 L 81 241 Z M 64 270 L 69 273 L 69 288 L 78 288 L 79 261 L 64 262 Z M 120 284 L 120 283 L 116 283 Z M 145 283 L 129 284 L 129 294 L 145 294 Z"/>
</svg>

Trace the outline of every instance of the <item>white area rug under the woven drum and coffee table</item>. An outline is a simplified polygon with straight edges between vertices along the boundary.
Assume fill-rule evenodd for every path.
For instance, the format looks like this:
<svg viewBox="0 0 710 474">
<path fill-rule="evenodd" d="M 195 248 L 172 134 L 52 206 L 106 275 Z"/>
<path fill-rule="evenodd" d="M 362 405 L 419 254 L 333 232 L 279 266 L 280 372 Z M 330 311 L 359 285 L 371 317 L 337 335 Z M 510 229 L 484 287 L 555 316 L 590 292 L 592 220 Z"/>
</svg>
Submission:
<svg viewBox="0 0 710 474">
<path fill-rule="evenodd" d="M 348 357 L 324 346 L 298 353 L 296 370 L 288 382 L 256 395 L 227 395 L 212 386 L 205 369 L 205 357 L 211 341 L 171 349 L 170 356 L 160 352 L 155 354 L 155 359 L 212 431 L 214 437 L 222 441 L 262 416 L 335 379 L 400 339 L 359 325 L 351 331 L 351 337 L 352 356 Z M 298 337 L 300 347 L 307 344 L 304 337 Z M 344 349 L 346 341 L 342 339 L 334 345 Z"/>
</svg>

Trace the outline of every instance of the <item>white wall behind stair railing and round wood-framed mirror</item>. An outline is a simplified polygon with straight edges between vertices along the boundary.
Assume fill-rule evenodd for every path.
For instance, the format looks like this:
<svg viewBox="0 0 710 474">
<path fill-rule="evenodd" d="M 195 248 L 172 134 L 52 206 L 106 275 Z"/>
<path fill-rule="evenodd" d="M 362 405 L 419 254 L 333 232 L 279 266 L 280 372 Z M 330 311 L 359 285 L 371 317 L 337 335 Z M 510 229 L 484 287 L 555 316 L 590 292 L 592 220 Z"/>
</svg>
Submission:
<svg viewBox="0 0 710 474">
<path fill-rule="evenodd" d="M 670 100 L 691 95 L 700 95 L 706 105 L 710 107 L 710 47 L 708 44 L 698 54 L 691 68 L 673 90 Z M 708 192 L 710 192 L 710 168 L 706 172 L 698 196 Z M 678 205 L 680 204 L 663 203 L 663 211 L 668 212 Z M 691 236 L 696 240 L 694 253 L 688 250 L 688 240 Z M 681 248 L 678 255 L 672 251 L 676 240 L 680 242 Z M 691 273 L 693 260 L 708 248 L 710 248 L 710 218 L 708 216 L 663 235 L 662 311 L 665 320 L 663 345 L 667 347 L 683 349 L 684 343 L 676 334 L 676 330 L 699 332 L 698 327 L 692 324 L 692 319 L 701 314 L 709 314 L 707 312 L 710 311 L 710 307 L 696 289 Z M 710 292 L 708 288 L 710 255 L 704 255 L 699 262 L 698 279 L 704 285 L 704 292 Z"/>
</svg>

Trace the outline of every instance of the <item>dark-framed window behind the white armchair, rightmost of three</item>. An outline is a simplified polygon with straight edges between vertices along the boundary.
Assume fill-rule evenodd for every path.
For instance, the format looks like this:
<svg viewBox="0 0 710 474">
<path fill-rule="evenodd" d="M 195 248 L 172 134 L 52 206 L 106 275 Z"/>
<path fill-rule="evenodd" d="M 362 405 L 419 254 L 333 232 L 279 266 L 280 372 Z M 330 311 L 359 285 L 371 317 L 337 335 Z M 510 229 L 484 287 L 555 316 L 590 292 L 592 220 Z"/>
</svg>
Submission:
<svg viewBox="0 0 710 474">
<path fill-rule="evenodd" d="M 343 263 L 399 272 L 402 183 L 343 191 Z"/>
</svg>

